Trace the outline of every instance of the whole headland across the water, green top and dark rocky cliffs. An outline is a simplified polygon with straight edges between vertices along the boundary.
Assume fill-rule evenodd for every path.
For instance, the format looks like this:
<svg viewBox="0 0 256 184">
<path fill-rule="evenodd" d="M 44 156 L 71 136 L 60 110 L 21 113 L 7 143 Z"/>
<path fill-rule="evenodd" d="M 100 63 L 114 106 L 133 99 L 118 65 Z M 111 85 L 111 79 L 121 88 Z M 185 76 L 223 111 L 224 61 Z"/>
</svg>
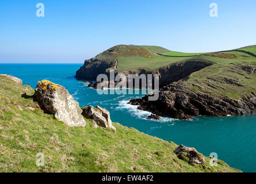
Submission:
<svg viewBox="0 0 256 184">
<path fill-rule="evenodd" d="M 149 101 L 153 94 L 147 94 L 129 102 L 158 116 L 189 120 L 255 114 L 255 54 L 256 45 L 196 55 L 156 46 L 117 45 L 86 60 L 76 78 L 95 81 L 98 74 L 109 75 L 110 70 L 124 75 L 158 74 L 157 101 Z M 98 82 L 89 85 L 97 86 Z"/>
</svg>

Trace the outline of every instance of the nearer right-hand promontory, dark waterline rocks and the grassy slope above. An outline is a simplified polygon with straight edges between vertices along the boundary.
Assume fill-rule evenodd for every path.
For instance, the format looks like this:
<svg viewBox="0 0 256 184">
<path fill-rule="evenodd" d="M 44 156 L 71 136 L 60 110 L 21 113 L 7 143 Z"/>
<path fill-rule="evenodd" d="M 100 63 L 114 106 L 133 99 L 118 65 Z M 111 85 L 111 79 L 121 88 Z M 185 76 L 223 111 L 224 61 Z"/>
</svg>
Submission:
<svg viewBox="0 0 256 184">
<path fill-rule="evenodd" d="M 159 99 L 131 99 L 129 104 L 159 116 L 227 116 L 256 113 L 255 63 L 206 67 L 178 82 L 161 87 Z M 215 72 L 213 72 L 215 71 Z M 207 74 L 207 75 L 206 75 Z M 169 81 L 172 81 L 170 78 Z"/>
</svg>

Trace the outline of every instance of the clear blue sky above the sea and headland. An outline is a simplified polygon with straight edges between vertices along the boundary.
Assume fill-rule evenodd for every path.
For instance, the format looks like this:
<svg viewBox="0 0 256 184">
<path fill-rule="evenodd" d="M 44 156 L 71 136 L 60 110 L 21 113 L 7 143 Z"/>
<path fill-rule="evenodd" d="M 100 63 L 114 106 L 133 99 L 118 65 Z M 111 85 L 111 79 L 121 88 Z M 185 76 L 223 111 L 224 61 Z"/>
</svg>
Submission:
<svg viewBox="0 0 256 184">
<path fill-rule="evenodd" d="M 36 4 L 44 17 L 36 17 Z M 210 17 L 210 3 L 218 17 Z M 255 0 L 0 1 L 0 63 L 83 63 L 118 44 L 209 52 L 256 44 Z"/>
</svg>

